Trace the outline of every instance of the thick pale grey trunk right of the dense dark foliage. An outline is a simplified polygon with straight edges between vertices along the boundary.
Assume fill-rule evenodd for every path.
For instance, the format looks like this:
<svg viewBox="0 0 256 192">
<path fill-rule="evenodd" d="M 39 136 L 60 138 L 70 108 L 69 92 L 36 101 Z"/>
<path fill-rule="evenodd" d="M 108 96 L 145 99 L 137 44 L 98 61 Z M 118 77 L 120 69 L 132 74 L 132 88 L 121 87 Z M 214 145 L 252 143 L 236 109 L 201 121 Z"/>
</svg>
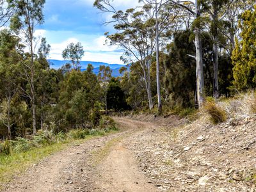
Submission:
<svg viewBox="0 0 256 192">
<path fill-rule="evenodd" d="M 196 1 L 196 19 L 200 17 L 200 5 Z M 200 27 L 195 29 L 195 45 L 196 45 L 196 92 L 198 108 L 202 108 L 204 103 L 204 65 L 203 51 L 201 41 Z"/>
</svg>

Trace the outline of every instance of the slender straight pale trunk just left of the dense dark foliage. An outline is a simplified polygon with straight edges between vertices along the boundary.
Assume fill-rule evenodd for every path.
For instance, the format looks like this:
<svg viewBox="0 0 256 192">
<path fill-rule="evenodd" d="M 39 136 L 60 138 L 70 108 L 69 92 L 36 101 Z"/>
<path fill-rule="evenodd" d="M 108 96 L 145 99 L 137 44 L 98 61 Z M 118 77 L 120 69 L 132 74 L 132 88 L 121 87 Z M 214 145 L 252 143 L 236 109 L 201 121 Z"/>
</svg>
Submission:
<svg viewBox="0 0 256 192">
<path fill-rule="evenodd" d="M 161 102 L 161 84 L 159 77 L 159 31 L 158 31 L 158 13 L 157 13 L 157 1 L 156 1 L 156 84 L 157 84 L 157 102 L 158 102 L 158 113 L 162 113 L 162 102 Z"/>
</svg>

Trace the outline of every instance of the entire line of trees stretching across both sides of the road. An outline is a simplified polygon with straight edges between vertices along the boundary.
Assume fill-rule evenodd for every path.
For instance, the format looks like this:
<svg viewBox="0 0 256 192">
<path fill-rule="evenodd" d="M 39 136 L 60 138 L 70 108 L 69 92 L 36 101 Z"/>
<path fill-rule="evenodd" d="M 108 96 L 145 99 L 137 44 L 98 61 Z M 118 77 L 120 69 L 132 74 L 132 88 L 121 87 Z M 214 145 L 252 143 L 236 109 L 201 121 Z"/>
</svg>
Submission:
<svg viewBox="0 0 256 192">
<path fill-rule="evenodd" d="M 80 43 L 62 52 L 70 61 L 50 67 L 51 45 L 38 39 L 44 0 L 2 0 L 0 26 L 0 137 L 92 129 L 109 110 L 202 108 L 207 96 L 230 97 L 255 88 L 255 3 L 250 0 L 140 0 L 116 10 L 111 0 L 93 4 L 112 14 L 109 45 L 124 50 L 121 77 L 111 68 L 81 71 Z"/>
</svg>

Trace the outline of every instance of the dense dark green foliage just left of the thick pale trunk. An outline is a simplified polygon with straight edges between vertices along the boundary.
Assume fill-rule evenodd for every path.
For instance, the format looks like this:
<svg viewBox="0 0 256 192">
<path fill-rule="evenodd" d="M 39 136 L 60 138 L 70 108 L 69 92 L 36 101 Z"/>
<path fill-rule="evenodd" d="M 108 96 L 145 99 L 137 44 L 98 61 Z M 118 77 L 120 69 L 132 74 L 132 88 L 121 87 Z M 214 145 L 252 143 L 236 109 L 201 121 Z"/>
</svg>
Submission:
<svg viewBox="0 0 256 192">
<path fill-rule="evenodd" d="M 195 60 L 188 56 L 195 52 L 195 45 L 189 41 L 191 31 L 182 31 L 174 35 L 170 45 L 170 54 L 164 63 L 164 86 L 169 96 L 170 108 L 189 108 L 195 98 Z M 188 81 L 189 79 L 189 81 Z"/>
</svg>

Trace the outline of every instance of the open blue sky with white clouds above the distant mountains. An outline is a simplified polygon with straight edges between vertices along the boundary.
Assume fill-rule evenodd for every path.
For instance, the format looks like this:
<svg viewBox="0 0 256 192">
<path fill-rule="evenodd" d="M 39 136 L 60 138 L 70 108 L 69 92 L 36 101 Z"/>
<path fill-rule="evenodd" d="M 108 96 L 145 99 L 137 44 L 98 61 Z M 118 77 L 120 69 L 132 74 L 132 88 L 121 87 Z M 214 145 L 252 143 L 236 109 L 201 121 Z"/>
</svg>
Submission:
<svg viewBox="0 0 256 192">
<path fill-rule="evenodd" d="M 51 45 L 49 59 L 63 60 L 61 52 L 71 42 L 81 42 L 83 61 L 122 64 L 122 49 L 105 45 L 104 33 L 114 32 L 111 25 L 104 25 L 111 15 L 93 7 L 94 0 L 46 0 L 45 22 L 36 29 L 36 35 L 45 37 Z M 137 0 L 113 0 L 117 10 L 138 5 Z"/>
</svg>

